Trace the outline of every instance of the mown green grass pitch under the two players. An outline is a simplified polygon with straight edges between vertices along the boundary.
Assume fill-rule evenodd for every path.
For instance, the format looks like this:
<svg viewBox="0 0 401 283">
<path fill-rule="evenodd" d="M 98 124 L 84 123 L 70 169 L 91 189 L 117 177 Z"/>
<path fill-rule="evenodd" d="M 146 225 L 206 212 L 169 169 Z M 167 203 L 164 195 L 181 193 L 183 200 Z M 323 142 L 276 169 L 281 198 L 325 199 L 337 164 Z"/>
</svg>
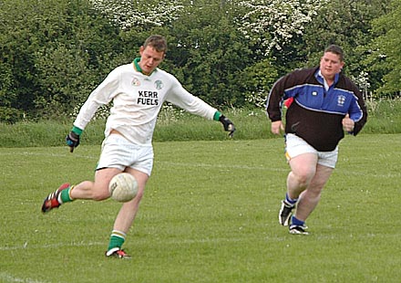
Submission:
<svg viewBox="0 0 401 283">
<path fill-rule="evenodd" d="M 0 282 L 399 282 L 401 134 L 341 142 L 310 236 L 278 224 L 282 139 L 154 147 L 131 260 L 104 257 L 118 203 L 40 213 L 58 184 L 92 179 L 98 146 L 0 148 Z"/>
</svg>

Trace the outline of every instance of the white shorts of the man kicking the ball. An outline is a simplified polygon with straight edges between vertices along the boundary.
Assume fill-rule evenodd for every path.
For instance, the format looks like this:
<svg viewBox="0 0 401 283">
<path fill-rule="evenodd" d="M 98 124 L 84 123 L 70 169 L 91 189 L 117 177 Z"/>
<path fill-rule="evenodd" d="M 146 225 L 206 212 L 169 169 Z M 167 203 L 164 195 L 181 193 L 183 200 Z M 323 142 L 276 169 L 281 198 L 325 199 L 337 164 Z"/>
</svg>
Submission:
<svg viewBox="0 0 401 283">
<path fill-rule="evenodd" d="M 102 143 L 97 170 L 111 167 L 124 171 L 130 167 L 150 176 L 153 158 L 151 145 L 134 144 L 122 135 L 110 134 Z"/>
</svg>

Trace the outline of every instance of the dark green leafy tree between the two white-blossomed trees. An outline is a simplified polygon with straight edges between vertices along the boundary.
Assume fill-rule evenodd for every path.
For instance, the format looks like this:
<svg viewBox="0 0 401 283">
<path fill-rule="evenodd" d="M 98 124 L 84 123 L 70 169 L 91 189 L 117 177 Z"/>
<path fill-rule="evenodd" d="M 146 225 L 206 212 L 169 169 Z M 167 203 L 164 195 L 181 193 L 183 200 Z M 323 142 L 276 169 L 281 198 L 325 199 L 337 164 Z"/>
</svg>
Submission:
<svg viewBox="0 0 401 283">
<path fill-rule="evenodd" d="M 212 104 L 242 106 L 242 73 L 252 64 L 252 53 L 233 25 L 232 6 L 194 2 L 170 27 L 171 72 L 190 92 Z"/>
</svg>

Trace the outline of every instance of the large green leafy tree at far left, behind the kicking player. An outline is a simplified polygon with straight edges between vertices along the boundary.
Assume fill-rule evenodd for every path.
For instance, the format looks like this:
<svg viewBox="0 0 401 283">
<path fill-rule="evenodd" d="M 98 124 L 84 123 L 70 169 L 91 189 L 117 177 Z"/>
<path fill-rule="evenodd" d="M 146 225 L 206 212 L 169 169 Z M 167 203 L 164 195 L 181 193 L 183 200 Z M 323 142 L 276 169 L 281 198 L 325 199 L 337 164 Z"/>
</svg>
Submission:
<svg viewBox="0 0 401 283">
<path fill-rule="evenodd" d="M 87 1 L 5 0 L 0 7 L 0 107 L 31 118 L 65 114 L 118 58 L 118 29 Z"/>
</svg>

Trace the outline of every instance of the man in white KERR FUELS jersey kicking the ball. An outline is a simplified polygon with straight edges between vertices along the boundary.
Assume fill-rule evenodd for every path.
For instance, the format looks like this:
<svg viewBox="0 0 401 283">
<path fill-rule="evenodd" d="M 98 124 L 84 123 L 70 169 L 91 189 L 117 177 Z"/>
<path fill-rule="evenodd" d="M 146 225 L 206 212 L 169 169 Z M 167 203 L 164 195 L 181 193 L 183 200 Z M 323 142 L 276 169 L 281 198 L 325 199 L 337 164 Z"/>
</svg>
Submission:
<svg viewBox="0 0 401 283">
<path fill-rule="evenodd" d="M 122 204 L 111 232 L 106 257 L 129 258 L 121 246 L 138 212 L 153 167 L 151 142 L 164 101 L 206 119 L 221 121 L 230 136 L 235 131 L 233 123 L 221 112 L 191 95 L 178 79 L 158 68 L 166 51 L 164 37 L 150 36 L 139 48 L 140 58 L 136 58 L 132 64 L 112 70 L 89 95 L 79 110 L 72 131 L 67 135 L 67 145 L 73 152 L 79 144 L 79 136 L 98 108 L 113 100 L 95 181 L 76 185 L 64 183 L 56 192 L 47 195 L 42 205 L 42 212 L 47 213 L 76 199 L 108 199 L 111 178 L 122 172 L 132 174 L 138 181 L 139 191 L 133 200 Z"/>
</svg>

